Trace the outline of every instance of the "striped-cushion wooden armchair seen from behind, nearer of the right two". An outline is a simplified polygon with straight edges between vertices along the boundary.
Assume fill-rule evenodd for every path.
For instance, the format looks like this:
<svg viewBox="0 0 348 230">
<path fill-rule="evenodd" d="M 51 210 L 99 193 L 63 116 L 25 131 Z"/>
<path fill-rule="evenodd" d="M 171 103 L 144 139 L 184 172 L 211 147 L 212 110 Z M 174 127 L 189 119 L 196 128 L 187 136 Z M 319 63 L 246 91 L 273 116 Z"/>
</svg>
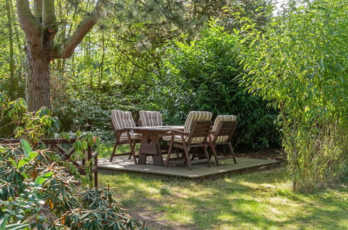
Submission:
<svg viewBox="0 0 348 230">
<path fill-rule="evenodd" d="M 211 118 L 212 113 L 210 112 L 192 111 L 189 113 L 189 116 L 187 116 L 184 131 L 173 130 L 171 131 L 171 136 L 163 137 L 163 140 L 168 141 L 169 143 L 166 167 L 168 167 L 170 160 L 184 159 L 185 162 L 187 162 L 189 169 L 192 169 L 191 161 L 189 159 L 189 153 L 192 148 L 203 148 L 205 158 L 207 158 L 207 164 L 210 167 L 210 159 L 207 153 L 207 137 L 209 136 L 209 130 L 212 126 L 212 121 L 210 121 Z M 184 156 L 171 158 L 171 151 L 173 148 L 184 150 Z M 212 149 L 216 165 L 219 165 L 214 146 L 212 146 Z"/>
</svg>

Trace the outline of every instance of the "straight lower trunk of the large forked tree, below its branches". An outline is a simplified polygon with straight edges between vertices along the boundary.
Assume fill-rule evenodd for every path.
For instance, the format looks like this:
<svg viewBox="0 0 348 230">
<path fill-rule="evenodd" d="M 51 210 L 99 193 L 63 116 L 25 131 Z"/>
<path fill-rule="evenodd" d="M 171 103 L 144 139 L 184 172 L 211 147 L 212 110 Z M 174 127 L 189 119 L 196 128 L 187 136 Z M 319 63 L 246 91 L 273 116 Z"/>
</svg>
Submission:
<svg viewBox="0 0 348 230">
<path fill-rule="evenodd" d="M 49 102 L 49 61 L 47 57 L 37 58 L 26 55 L 26 102 L 29 111 L 38 111 Z"/>
</svg>

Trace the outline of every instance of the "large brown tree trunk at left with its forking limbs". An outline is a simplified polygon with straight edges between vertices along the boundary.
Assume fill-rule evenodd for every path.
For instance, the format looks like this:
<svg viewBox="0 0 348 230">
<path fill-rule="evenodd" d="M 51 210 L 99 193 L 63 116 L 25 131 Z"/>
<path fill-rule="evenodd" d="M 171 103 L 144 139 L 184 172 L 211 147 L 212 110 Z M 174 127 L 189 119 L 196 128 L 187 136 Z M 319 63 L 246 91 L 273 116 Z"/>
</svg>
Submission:
<svg viewBox="0 0 348 230">
<path fill-rule="evenodd" d="M 33 0 L 35 15 L 31 12 L 29 0 L 16 2 L 18 20 L 27 41 L 26 102 L 29 111 L 38 111 L 40 107 L 50 107 L 50 61 L 72 56 L 75 47 L 97 23 L 102 11 L 102 0 L 97 1 L 93 13 L 80 22 L 76 31 L 63 44 L 54 44 L 58 31 L 54 0 Z"/>
</svg>

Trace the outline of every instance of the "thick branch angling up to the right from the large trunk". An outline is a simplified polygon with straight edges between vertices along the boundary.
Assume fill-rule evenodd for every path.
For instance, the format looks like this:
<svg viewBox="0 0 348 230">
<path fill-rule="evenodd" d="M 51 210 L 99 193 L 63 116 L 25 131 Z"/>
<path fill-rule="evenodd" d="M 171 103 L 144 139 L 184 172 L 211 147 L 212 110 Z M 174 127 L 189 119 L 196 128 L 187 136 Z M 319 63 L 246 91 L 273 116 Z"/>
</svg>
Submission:
<svg viewBox="0 0 348 230">
<path fill-rule="evenodd" d="M 88 31 L 95 26 L 97 20 L 100 18 L 102 13 L 102 1 L 103 0 L 97 1 L 93 13 L 90 13 L 90 15 L 80 22 L 77 29 L 74 31 L 74 33 L 72 33 L 72 36 L 65 40 L 63 50 L 57 50 L 60 47 L 55 47 L 54 50 L 52 50 L 51 54 L 49 55 L 51 60 L 66 59 L 72 56 L 74 49 L 77 47 L 77 45 L 79 45 L 79 43 L 81 43 Z"/>
</svg>

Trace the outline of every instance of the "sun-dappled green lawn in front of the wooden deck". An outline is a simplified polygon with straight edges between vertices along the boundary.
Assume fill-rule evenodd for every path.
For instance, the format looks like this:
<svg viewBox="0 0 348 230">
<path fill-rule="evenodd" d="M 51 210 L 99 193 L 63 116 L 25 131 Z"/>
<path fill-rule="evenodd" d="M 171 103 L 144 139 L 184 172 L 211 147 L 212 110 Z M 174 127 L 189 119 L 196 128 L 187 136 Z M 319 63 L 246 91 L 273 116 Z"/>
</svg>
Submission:
<svg viewBox="0 0 348 230">
<path fill-rule="evenodd" d="M 348 229 L 348 187 L 291 191 L 284 169 L 207 181 L 101 175 L 150 229 Z"/>
</svg>

